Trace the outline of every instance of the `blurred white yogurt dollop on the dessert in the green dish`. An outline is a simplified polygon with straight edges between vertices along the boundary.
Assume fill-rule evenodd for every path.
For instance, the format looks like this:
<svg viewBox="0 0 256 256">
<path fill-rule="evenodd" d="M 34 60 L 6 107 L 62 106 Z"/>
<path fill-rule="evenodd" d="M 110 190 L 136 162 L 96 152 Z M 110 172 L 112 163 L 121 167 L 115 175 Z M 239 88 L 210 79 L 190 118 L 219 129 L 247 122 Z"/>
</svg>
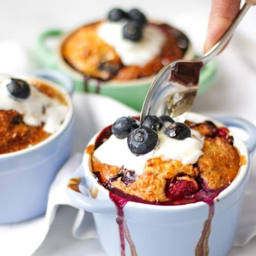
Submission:
<svg viewBox="0 0 256 256">
<path fill-rule="evenodd" d="M 125 66 L 143 66 L 160 54 L 165 36 L 158 28 L 145 25 L 143 37 L 134 42 L 123 38 L 124 25 L 125 22 L 103 22 L 98 35 L 115 49 Z"/>
</svg>

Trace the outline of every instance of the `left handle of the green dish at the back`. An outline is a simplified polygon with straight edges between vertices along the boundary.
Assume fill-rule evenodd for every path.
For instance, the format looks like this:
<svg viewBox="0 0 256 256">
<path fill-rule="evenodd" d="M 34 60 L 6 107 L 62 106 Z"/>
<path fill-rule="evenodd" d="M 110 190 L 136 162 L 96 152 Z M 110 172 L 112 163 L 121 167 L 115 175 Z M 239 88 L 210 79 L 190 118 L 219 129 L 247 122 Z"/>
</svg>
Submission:
<svg viewBox="0 0 256 256">
<path fill-rule="evenodd" d="M 57 66 L 57 59 L 54 49 L 46 46 L 48 38 L 60 37 L 64 32 L 59 29 L 51 29 L 42 32 L 36 41 L 36 52 L 39 61 L 45 68 L 54 69 Z"/>
</svg>

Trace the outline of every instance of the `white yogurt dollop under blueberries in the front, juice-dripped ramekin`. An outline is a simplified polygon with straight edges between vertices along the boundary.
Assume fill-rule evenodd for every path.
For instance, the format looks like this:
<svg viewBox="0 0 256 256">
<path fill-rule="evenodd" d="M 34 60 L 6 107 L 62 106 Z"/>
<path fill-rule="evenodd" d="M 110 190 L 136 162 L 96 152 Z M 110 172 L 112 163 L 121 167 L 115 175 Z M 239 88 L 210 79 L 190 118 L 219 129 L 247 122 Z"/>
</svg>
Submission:
<svg viewBox="0 0 256 256">
<path fill-rule="evenodd" d="M 151 158 L 161 158 L 163 161 L 172 159 L 179 160 L 182 164 L 194 164 L 203 154 L 201 149 L 204 139 L 197 137 L 196 131 L 191 130 L 191 134 L 189 138 L 177 140 L 159 133 L 159 144 L 155 150 L 140 156 L 130 151 L 126 139 L 118 139 L 115 135 L 111 135 L 96 149 L 94 156 L 102 163 L 134 170 L 137 175 L 143 173 L 146 161 Z"/>
</svg>

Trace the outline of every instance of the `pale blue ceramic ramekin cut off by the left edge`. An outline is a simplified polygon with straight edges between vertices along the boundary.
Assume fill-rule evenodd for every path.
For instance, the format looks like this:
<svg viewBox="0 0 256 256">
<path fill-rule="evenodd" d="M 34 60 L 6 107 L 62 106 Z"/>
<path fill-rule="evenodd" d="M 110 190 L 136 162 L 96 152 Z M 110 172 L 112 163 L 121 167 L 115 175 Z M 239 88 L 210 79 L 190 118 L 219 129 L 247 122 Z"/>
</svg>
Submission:
<svg viewBox="0 0 256 256">
<path fill-rule="evenodd" d="M 50 185 L 72 152 L 74 110 L 70 94 L 74 84 L 57 71 L 35 73 L 19 78 L 39 81 L 53 88 L 67 102 L 68 112 L 58 130 L 48 138 L 25 149 L 0 154 L 0 224 L 21 222 L 44 214 Z"/>
</svg>

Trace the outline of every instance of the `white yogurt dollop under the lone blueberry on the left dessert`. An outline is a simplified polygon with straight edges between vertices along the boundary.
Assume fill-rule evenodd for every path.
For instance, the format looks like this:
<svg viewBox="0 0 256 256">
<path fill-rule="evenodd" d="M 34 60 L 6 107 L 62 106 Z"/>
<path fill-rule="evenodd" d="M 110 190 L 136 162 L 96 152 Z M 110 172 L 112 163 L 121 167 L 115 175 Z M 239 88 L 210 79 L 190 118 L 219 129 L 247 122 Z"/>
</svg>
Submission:
<svg viewBox="0 0 256 256">
<path fill-rule="evenodd" d="M 10 79 L 0 83 L 0 110 L 15 110 L 24 115 L 24 122 L 28 125 L 44 125 L 44 131 L 56 132 L 68 113 L 68 106 L 57 99 L 50 98 L 30 84 L 30 96 L 27 99 L 16 100 L 10 96 L 7 84 Z"/>
</svg>

